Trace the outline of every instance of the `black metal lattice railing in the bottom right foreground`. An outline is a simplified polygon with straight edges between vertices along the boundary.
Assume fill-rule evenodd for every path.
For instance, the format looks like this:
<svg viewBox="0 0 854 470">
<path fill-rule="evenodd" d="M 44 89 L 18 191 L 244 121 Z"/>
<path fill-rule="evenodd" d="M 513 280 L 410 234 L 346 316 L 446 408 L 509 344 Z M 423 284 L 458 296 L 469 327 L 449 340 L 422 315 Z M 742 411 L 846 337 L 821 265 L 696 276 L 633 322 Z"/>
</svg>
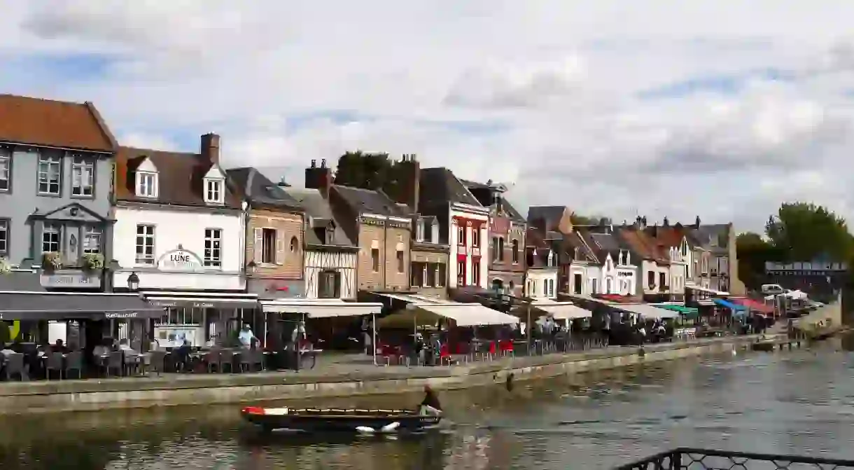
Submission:
<svg viewBox="0 0 854 470">
<path fill-rule="evenodd" d="M 643 460 L 617 467 L 615 470 L 798 470 L 805 468 L 819 470 L 854 468 L 854 461 L 802 455 L 754 454 L 752 452 L 680 448 L 646 457 Z"/>
</svg>

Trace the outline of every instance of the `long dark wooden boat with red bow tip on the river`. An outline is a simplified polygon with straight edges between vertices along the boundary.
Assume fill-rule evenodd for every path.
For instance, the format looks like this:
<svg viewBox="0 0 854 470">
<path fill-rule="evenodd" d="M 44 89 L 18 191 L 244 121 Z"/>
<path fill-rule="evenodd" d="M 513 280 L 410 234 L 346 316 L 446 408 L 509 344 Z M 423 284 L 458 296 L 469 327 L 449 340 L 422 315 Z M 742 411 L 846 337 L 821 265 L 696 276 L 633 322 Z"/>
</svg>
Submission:
<svg viewBox="0 0 854 470">
<path fill-rule="evenodd" d="M 262 408 L 246 407 L 243 419 L 263 431 L 359 432 L 363 434 L 420 431 L 439 424 L 441 415 L 404 409 Z"/>
</svg>

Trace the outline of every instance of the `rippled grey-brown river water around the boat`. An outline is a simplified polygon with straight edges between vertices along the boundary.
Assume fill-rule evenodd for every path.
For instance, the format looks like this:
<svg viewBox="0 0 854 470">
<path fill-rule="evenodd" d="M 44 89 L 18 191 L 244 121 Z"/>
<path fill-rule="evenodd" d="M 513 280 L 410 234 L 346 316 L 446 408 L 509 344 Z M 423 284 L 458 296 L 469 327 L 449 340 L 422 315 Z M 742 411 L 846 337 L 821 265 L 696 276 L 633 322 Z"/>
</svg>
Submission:
<svg viewBox="0 0 854 470">
<path fill-rule="evenodd" d="M 441 393 L 453 423 L 410 438 L 261 438 L 241 424 L 237 407 L 4 418 L 0 468 L 563 470 L 610 468 L 676 446 L 851 458 L 854 353 L 846 345 Z"/>
</svg>

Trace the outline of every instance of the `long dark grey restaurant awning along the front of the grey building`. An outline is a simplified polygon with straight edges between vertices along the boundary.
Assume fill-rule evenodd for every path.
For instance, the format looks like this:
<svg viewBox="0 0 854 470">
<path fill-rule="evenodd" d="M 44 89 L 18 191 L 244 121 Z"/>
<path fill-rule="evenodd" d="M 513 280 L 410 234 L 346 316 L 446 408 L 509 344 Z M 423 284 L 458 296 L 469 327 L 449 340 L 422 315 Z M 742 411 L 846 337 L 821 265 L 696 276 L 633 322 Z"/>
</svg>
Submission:
<svg viewBox="0 0 854 470">
<path fill-rule="evenodd" d="M 0 320 L 160 318 L 137 294 L 0 291 Z"/>
</svg>

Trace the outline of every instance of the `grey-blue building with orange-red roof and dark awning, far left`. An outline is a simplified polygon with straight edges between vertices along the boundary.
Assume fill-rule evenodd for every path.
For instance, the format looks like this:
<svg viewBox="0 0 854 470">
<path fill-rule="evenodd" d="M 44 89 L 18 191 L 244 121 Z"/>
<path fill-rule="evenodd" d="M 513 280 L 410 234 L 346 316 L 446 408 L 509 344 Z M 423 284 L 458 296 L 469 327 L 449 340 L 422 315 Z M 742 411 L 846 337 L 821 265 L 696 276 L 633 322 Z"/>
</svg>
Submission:
<svg viewBox="0 0 854 470">
<path fill-rule="evenodd" d="M 0 320 L 146 316 L 91 296 L 110 290 L 116 147 L 92 103 L 0 95 Z"/>
</svg>

